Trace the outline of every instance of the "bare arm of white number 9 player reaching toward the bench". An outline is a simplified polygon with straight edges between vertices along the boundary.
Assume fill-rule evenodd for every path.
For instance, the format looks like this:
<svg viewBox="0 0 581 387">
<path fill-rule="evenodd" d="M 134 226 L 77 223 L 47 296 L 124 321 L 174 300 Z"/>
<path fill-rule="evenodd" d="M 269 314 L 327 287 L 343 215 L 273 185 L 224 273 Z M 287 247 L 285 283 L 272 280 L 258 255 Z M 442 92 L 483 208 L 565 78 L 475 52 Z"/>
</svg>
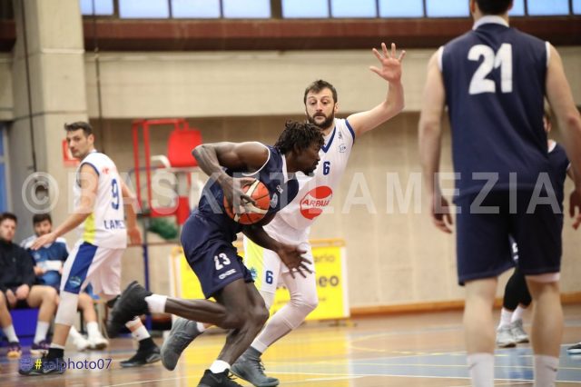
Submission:
<svg viewBox="0 0 581 387">
<path fill-rule="evenodd" d="M 71 213 L 52 233 L 46 233 L 36 238 L 30 246 L 31 250 L 38 250 L 46 243 L 53 243 L 56 238 L 73 230 L 93 213 L 94 198 L 97 194 L 99 183 L 99 175 L 94 170 L 93 165 L 83 164 L 81 166 L 78 181 L 81 185 L 81 197 L 79 205 L 74 209 L 74 213 Z"/>
</svg>

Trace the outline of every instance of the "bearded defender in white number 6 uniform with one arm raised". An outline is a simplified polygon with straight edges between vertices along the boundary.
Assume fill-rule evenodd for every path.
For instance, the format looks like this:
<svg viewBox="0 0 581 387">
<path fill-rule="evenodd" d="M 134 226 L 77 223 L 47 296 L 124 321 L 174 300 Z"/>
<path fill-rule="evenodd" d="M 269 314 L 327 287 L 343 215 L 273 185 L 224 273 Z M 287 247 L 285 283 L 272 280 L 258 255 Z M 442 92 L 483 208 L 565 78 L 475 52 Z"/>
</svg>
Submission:
<svg viewBox="0 0 581 387">
<path fill-rule="evenodd" d="M 311 124 L 317 125 L 325 136 L 325 145 L 319 153 L 320 163 L 313 175 L 299 178 L 299 194 L 264 229 L 281 243 L 299 244 L 300 249 L 307 252 L 304 256 L 311 263 L 310 225 L 330 203 L 345 172 L 356 137 L 385 123 L 399 114 L 404 107 L 401 61 L 405 51 L 397 55 L 394 44 L 391 44 L 390 52 L 385 44 L 381 47 L 382 53 L 373 49 L 381 68 L 371 66 L 370 70 L 388 81 L 389 93 L 385 101 L 371 110 L 351 114 L 347 119 L 335 118 L 338 112 L 337 91 L 332 84 L 322 80 L 310 84 L 304 93 L 307 119 Z M 291 301 L 271 317 L 251 347 L 232 365 L 231 372 L 255 386 L 275 386 L 279 381 L 264 374 L 261 354 L 273 342 L 298 327 L 317 307 L 319 300 L 315 273 L 314 270 L 306 276 L 290 273 L 276 253 L 261 249 L 246 238 L 244 251 L 245 263 L 256 273 L 255 284 L 267 309 L 270 309 L 274 301 L 274 293 L 280 280 L 289 289 Z M 175 367 L 179 354 L 205 328 L 201 323 L 178 319 L 172 327 L 169 339 L 163 342 L 163 365 L 169 369 Z"/>
</svg>

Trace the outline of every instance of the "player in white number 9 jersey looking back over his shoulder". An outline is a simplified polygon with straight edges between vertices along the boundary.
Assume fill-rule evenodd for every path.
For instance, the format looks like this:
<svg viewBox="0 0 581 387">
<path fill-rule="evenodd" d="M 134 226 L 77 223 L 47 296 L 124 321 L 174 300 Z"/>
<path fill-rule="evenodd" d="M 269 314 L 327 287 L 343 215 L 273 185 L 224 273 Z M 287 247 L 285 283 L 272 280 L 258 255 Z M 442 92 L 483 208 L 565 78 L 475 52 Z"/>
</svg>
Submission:
<svg viewBox="0 0 581 387">
<path fill-rule="evenodd" d="M 79 293 L 88 283 L 94 293 L 107 301 L 109 307 L 121 293 L 121 257 L 127 247 L 127 234 L 132 243 L 141 243 L 133 211 L 133 194 L 120 178 L 117 167 L 105 154 L 94 149 L 94 134 L 90 124 L 65 124 L 66 140 L 74 157 L 81 160 L 74 183 L 74 213 L 54 229 L 37 238 L 32 250 L 53 243 L 57 237 L 75 227 L 81 233 L 73 252 L 64 263 L 61 280 L 61 301 L 54 318 L 53 342 L 42 367 L 22 367 L 24 375 L 63 373 L 64 343 L 74 323 Z M 129 199 L 123 202 L 123 197 Z M 123 204 L 128 204 L 125 223 Z M 139 318 L 127 327 L 139 341 L 133 358 L 122 362 L 132 367 L 160 360 L 159 348 Z M 27 366 L 28 364 L 25 364 Z"/>
</svg>

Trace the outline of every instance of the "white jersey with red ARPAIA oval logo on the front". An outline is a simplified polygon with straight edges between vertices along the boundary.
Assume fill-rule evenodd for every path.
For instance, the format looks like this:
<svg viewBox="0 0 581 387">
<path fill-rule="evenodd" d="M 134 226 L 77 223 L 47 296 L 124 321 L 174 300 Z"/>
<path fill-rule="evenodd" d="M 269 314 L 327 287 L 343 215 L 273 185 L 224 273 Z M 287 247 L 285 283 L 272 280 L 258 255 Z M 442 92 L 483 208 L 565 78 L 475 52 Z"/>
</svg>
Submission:
<svg viewBox="0 0 581 387">
<path fill-rule="evenodd" d="M 267 233 L 277 240 L 286 240 L 286 236 L 306 240 L 310 225 L 329 205 L 345 173 L 354 141 L 355 133 L 347 120 L 336 118 L 335 128 L 319 151 L 320 162 L 313 176 L 297 174 L 299 193 L 264 227 Z"/>
</svg>

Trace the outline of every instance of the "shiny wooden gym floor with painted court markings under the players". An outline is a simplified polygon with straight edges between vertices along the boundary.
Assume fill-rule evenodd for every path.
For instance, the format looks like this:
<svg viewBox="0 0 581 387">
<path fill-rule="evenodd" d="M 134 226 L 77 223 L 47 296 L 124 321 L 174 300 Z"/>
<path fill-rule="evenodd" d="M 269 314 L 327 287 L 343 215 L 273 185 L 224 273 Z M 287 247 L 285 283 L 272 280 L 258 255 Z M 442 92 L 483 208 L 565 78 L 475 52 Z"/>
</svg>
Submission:
<svg viewBox="0 0 581 387">
<path fill-rule="evenodd" d="M 566 328 L 557 386 L 581 384 L 581 357 L 569 356 L 567 344 L 581 341 L 581 305 L 565 307 Z M 526 314 L 525 320 L 530 316 Z M 391 387 L 469 386 L 463 352 L 461 313 L 426 313 L 331 323 L 308 323 L 275 344 L 264 356 L 268 373 L 281 386 Z M 525 324 L 529 330 L 530 325 Z M 161 344 L 162 339 L 155 339 Z M 184 352 L 178 367 L 161 363 L 122 369 L 118 362 L 133 354 L 129 338 L 116 339 L 103 352 L 74 352 L 71 361 L 104 364 L 108 370 L 69 370 L 64 375 L 21 377 L 19 361 L 0 349 L 0 386 L 195 386 L 220 351 L 224 335 L 204 334 Z M 29 356 L 27 349 L 23 358 Z M 528 344 L 497 350 L 497 386 L 532 386 Z M 103 362 L 101 362 L 103 360 Z M 241 382 L 241 381 L 239 381 Z M 243 385 L 249 385 L 241 382 Z"/>
</svg>

